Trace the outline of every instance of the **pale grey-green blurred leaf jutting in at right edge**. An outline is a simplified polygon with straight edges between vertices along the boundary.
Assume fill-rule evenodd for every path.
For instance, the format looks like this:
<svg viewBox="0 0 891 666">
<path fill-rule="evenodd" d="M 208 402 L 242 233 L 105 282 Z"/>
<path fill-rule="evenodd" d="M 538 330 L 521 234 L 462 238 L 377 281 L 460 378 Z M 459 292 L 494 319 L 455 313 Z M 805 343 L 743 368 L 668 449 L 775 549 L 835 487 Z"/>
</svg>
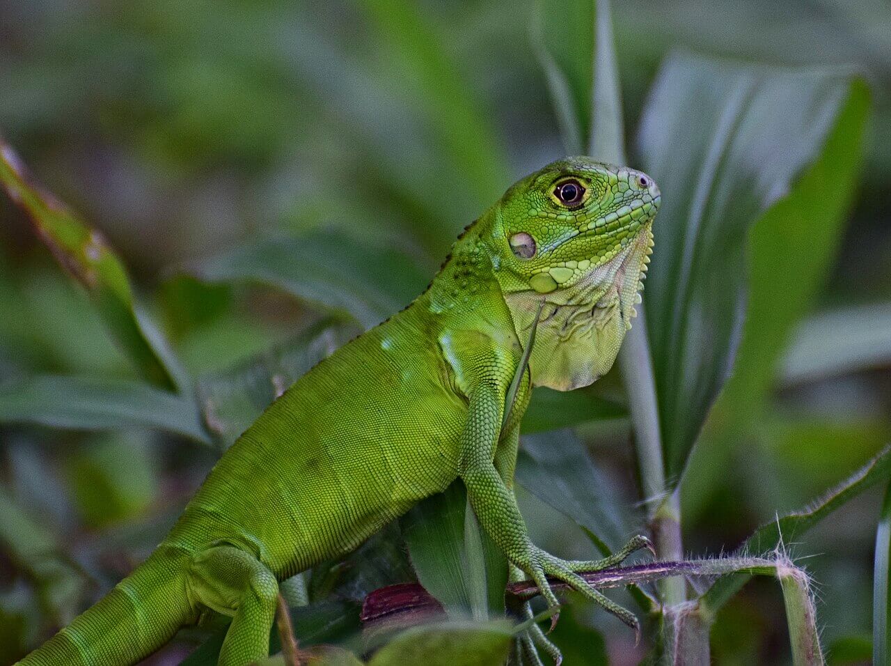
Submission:
<svg viewBox="0 0 891 666">
<path fill-rule="evenodd" d="M 782 381 L 813 382 L 891 365 L 891 303 L 838 308 L 806 320 L 789 345 Z"/>
</svg>

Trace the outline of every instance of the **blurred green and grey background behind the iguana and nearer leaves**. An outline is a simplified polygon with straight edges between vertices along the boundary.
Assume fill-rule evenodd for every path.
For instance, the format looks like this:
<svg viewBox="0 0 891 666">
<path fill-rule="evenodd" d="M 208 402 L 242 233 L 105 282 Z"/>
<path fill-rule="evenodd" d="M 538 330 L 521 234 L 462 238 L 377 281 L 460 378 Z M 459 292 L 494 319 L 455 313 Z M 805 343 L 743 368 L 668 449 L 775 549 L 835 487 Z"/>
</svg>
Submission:
<svg viewBox="0 0 891 666">
<path fill-rule="evenodd" d="M 336 229 L 359 248 L 396 248 L 433 275 L 462 227 L 507 185 L 565 153 L 530 45 L 530 6 L 405 6 L 393 21 L 386 8 L 346 2 L 0 0 L 0 132 L 123 256 L 191 374 L 223 372 L 319 317 L 282 290 L 196 280 L 192 267 L 261 235 Z M 716 554 L 891 440 L 891 9 L 880 0 L 628 0 L 613 14 L 626 127 L 637 127 L 674 49 L 828 65 L 871 88 L 843 239 L 788 342 L 769 404 L 739 436 L 700 440 L 694 456 L 684 549 Z M 571 29 L 576 4 L 549 20 Z M 472 127 L 471 140 L 456 143 L 454 127 Z M 852 332 L 850 344 L 840 331 Z M 845 363 L 822 366 L 838 345 Z M 28 374 L 133 369 L 27 218 L 0 196 L 0 381 Z M 640 491 L 627 420 L 580 435 L 633 504 Z M 16 522 L 11 506 L 0 515 L 0 662 L 138 562 L 214 459 L 151 430 L 0 426 L 4 488 L 33 521 Z M 868 492 L 788 545 L 808 555 L 836 663 L 869 658 L 880 499 L 880 489 Z M 545 546 L 584 551 L 574 525 L 524 501 Z M 4 547 L 34 525 L 94 581 L 59 589 L 54 608 L 34 594 L 34 571 Z M 715 625 L 715 661 L 786 662 L 783 616 L 777 586 L 750 583 Z M 631 638 L 619 633 L 606 649 L 623 663 Z M 186 637 L 158 662 L 176 662 L 189 645 Z"/>
</svg>

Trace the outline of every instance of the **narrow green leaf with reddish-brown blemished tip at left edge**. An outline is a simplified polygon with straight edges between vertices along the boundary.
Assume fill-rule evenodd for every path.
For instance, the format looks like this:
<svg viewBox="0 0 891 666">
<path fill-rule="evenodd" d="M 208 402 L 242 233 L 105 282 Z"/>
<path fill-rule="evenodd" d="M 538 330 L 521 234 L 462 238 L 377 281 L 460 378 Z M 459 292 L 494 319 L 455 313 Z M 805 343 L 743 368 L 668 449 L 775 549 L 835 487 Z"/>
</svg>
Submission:
<svg viewBox="0 0 891 666">
<path fill-rule="evenodd" d="M 187 379 L 136 303 L 127 269 L 95 229 L 29 177 L 12 148 L 0 140 L 0 183 L 29 214 L 37 235 L 70 275 L 86 287 L 105 325 L 143 377 L 176 389 Z"/>
</svg>

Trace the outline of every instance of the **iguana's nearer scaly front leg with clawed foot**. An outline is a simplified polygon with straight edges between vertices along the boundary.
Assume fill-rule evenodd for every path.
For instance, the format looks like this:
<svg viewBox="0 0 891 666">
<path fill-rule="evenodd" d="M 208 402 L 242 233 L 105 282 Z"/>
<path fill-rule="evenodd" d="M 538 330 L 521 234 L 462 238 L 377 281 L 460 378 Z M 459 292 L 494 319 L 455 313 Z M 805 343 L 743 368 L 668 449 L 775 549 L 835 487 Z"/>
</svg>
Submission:
<svg viewBox="0 0 891 666">
<path fill-rule="evenodd" d="M 501 431 L 502 401 L 506 387 L 490 375 L 473 386 L 469 412 L 460 447 L 459 474 L 467 487 L 470 506 L 483 529 L 503 550 L 507 559 L 535 581 L 549 607 L 560 605 L 547 577 L 563 580 L 570 588 L 603 606 L 629 627 L 639 628 L 637 618 L 589 585 L 575 569 L 588 562 L 561 560 L 529 539 L 526 522 L 513 493 L 495 469 L 495 448 Z M 593 563 L 590 563 L 593 564 Z M 552 626 L 557 614 L 552 616 Z"/>
</svg>

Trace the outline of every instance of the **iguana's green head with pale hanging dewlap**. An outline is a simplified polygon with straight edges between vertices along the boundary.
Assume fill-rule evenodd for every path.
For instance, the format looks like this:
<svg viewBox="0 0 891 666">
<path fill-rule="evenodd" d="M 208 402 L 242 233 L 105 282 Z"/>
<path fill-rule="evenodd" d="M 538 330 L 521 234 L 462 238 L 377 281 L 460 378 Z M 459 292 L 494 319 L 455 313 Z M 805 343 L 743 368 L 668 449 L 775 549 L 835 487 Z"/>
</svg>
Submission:
<svg viewBox="0 0 891 666">
<path fill-rule="evenodd" d="M 612 366 L 636 314 L 658 207 L 652 178 L 586 157 L 549 164 L 495 206 L 493 267 L 521 341 L 544 300 L 535 385 L 568 391 Z"/>
</svg>

